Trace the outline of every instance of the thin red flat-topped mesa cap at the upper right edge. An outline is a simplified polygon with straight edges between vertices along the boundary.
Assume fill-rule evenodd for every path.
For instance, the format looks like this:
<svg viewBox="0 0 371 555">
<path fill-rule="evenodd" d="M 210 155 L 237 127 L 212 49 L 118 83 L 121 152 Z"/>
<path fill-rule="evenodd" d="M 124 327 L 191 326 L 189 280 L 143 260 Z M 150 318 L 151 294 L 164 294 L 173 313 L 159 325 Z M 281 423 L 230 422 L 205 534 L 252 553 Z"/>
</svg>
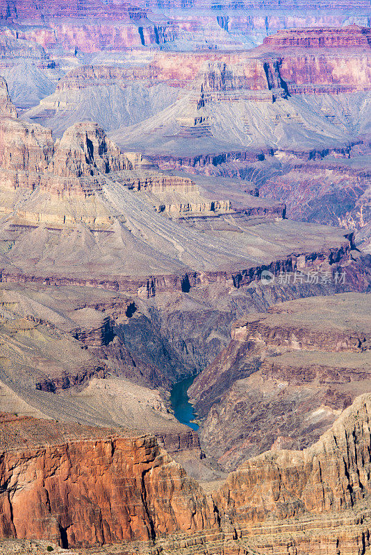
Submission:
<svg viewBox="0 0 371 555">
<path fill-rule="evenodd" d="M 275 48 L 371 49 L 371 29 L 358 25 L 343 28 L 288 29 L 265 37 L 263 45 Z"/>
</svg>

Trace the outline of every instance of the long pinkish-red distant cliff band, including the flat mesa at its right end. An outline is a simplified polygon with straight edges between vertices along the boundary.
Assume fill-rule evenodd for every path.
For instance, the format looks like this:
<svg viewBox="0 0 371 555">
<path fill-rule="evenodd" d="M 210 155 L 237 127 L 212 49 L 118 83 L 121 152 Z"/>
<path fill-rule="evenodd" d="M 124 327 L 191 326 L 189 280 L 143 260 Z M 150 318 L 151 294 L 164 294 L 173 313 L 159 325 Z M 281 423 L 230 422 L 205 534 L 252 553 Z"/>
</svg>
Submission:
<svg viewBox="0 0 371 555">
<path fill-rule="evenodd" d="M 323 33 L 327 32 L 323 30 Z M 192 56 L 189 53 L 172 53 L 155 55 L 154 60 L 147 67 L 143 67 L 143 65 L 138 65 L 138 67 L 134 65 L 130 69 L 79 67 L 72 69 L 58 83 L 57 91 L 63 92 L 115 83 L 128 86 L 128 80 L 131 82 L 142 79 L 148 79 L 152 85 L 156 81 L 164 81 L 171 86 L 190 87 L 190 80 L 196 78 L 201 69 L 202 78 L 199 84 L 202 84 L 206 91 L 208 89 L 211 91 L 238 89 L 256 91 L 280 87 L 284 89 L 284 82 L 287 81 L 289 92 L 295 94 L 299 92 L 299 89 L 295 89 L 295 85 L 302 83 L 323 85 L 328 81 L 322 83 L 322 80 L 328 80 L 330 76 L 339 85 L 342 84 L 342 80 L 347 80 L 349 87 L 353 86 L 356 89 L 364 90 L 370 81 L 366 67 L 370 51 L 368 28 L 347 26 L 333 29 L 326 34 L 326 36 L 332 37 L 332 42 L 329 38 L 328 44 L 321 42 L 319 38 L 318 44 L 314 44 L 314 37 L 318 35 L 320 35 L 320 31 L 311 29 L 281 31 L 281 33 L 267 37 L 263 46 L 256 49 L 256 57 L 254 57 L 254 51 L 228 55 L 215 52 L 207 55 L 196 53 Z M 300 42 L 300 37 L 302 37 L 304 46 Z M 296 51 L 292 51 L 292 49 L 286 51 L 285 41 Z M 345 54 L 342 49 L 347 47 L 347 42 L 350 46 L 354 46 L 354 49 Z M 272 56 L 272 47 L 277 57 Z M 282 52 L 281 49 L 283 49 Z M 305 49 L 314 50 L 314 52 L 304 53 Z M 322 53 L 320 53 L 321 51 Z M 310 57 L 308 58 L 308 56 Z M 354 62 L 357 67 L 352 69 Z M 355 78 L 356 75 L 357 78 Z M 361 83 L 358 83 L 360 78 Z M 197 85 L 199 80 L 198 78 Z"/>
</svg>

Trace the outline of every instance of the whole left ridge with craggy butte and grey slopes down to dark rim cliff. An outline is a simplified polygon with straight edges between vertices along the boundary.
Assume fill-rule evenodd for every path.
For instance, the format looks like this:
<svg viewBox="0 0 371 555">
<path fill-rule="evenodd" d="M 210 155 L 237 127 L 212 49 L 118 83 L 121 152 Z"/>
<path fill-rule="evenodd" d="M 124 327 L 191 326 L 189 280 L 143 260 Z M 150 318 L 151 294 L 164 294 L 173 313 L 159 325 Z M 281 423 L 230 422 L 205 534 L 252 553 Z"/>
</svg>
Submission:
<svg viewBox="0 0 371 555">
<path fill-rule="evenodd" d="M 307 225 L 306 237 L 301 225 L 292 235 L 282 207 L 274 213 L 251 196 L 252 211 L 235 210 L 187 178 L 138 172 L 141 155 L 120 153 L 97 123 L 75 123 L 54 143 L 49 130 L 17 119 L 1 86 L 3 281 L 97 284 L 148 297 L 209 280 L 240 287 L 263 269 L 293 268 L 304 253 L 304 266 L 349 257 L 342 230 Z M 252 233 L 249 216 L 259 212 L 268 218 Z M 188 216 L 199 225 L 186 225 Z M 220 221 L 211 234 L 204 216 Z"/>
</svg>

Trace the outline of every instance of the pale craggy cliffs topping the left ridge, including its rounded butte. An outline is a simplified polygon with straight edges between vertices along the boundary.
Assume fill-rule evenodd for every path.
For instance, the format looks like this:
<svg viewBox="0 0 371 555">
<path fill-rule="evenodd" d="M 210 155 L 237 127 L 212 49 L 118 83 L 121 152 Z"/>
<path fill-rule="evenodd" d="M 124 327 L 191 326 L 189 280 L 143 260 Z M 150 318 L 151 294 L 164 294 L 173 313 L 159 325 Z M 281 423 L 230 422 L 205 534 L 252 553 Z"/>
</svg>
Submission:
<svg viewBox="0 0 371 555">
<path fill-rule="evenodd" d="M 78 123 L 54 144 L 51 130 L 34 123 L 22 123 L 10 101 L 5 80 L 1 80 L 0 164 L 1 188 L 34 191 L 52 196 L 83 196 L 99 187 L 97 180 L 79 179 L 131 167 L 119 148 L 106 137 L 97 123 Z M 5 199 L 9 203 L 9 197 Z M 10 206 L 8 205 L 8 208 Z M 8 210 L 3 207 L 3 210 Z M 51 207 L 52 212 L 55 207 Z M 19 210 L 25 219 L 40 221 L 41 214 Z M 63 214 L 65 218 L 65 214 Z M 46 214 L 49 221 L 58 215 Z M 62 218 L 62 222 L 64 219 Z M 89 221 L 89 219 L 88 219 Z M 97 220 L 99 221 L 99 219 Z"/>
</svg>

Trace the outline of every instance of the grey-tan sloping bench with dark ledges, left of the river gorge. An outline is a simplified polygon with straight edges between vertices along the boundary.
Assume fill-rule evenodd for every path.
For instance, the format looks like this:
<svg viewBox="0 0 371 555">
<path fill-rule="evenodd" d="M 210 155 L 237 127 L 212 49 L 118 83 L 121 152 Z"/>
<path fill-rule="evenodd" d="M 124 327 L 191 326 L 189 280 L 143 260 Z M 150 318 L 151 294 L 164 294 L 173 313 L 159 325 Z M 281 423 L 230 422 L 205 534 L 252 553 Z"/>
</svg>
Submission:
<svg viewBox="0 0 371 555">
<path fill-rule="evenodd" d="M 46 399 L 33 395 L 35 388 L 60 393 L 92 377 L 127 377 L 143 386 L 168 382 L 160 369 L 132 357 L 114 332 L 114 325 L 137 310 L 130 297 L 69 287 L 58 294 L 41 284 L 36 289 L 3 286 L 0 293 L 0 379 L 31 407 L 48 411 L 49 403 L 53 410 L 56 401 L 50 398 L 45 405 Z M 68 403 L 66 408 L 71 410 Z"/>
</svg>

